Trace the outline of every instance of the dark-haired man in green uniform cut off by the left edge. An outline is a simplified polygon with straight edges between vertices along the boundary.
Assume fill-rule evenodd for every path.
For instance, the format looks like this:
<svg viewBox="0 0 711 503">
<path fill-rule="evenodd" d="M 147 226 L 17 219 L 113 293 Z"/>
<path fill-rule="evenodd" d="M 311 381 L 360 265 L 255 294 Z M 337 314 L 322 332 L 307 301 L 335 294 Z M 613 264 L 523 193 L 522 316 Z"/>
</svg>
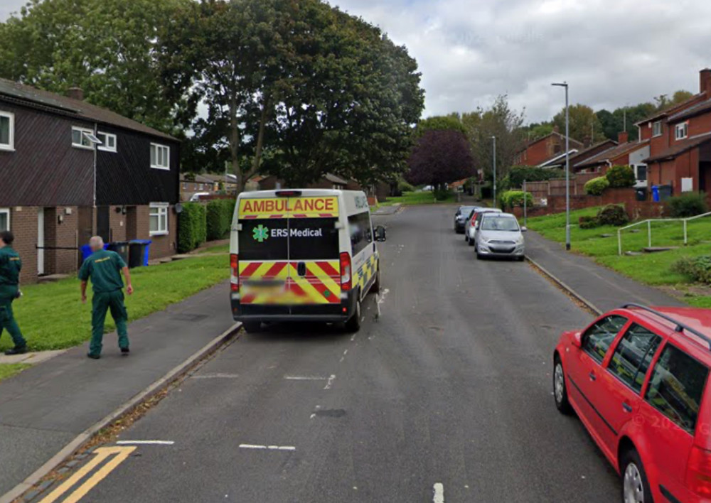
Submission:
<svg viewBox="0 0 711 503">
<path fill-rule="evenodd" d="M 27 342 L 17 326 L 12 313 L 12 301 L 19 296 L 20 269 L 22 261 L 12 249 L 15 237 L 10 231 L 0 232 L 0 335 L 7 330 L 15 347 L 5 352 L 6 355 L 22 355 L 27 352 Z"/>
</svg>

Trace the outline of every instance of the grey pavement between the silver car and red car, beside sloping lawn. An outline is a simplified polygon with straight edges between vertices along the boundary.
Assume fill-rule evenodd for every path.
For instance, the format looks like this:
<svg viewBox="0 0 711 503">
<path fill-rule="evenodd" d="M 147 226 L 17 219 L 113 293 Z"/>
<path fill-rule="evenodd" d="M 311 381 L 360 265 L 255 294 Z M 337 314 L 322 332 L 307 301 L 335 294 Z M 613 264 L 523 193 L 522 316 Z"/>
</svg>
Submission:
<svg viewBox="0 0 711 503">
<path fill-rule="evenodd" d="M 545 239 L 536 232 L 527 232 L 525 239 L 526 254 L 530 259 L 603 312 L 619 308 L 624 303 L 686 305 L 663 291 L 595 264 L 586 256 L 566 252 L 562 244 Z"/>
</svg>

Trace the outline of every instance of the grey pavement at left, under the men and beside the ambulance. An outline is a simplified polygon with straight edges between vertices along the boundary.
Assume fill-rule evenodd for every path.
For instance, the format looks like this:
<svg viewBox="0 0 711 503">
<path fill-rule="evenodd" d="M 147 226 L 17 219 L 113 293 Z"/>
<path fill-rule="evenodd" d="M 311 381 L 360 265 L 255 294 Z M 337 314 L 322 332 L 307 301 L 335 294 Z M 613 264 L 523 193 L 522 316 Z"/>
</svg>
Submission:
<svg viewBox="0 0 711 503">
<path fill-rule="evenodd" d="M 82 345 L 0 383 L 0 494 L 233 323 L 229 285 L 220 283 L 131 323 L 127 357 L 117 335 L 107 334 L 100 360 L 88 359 Z"/>
</svg>

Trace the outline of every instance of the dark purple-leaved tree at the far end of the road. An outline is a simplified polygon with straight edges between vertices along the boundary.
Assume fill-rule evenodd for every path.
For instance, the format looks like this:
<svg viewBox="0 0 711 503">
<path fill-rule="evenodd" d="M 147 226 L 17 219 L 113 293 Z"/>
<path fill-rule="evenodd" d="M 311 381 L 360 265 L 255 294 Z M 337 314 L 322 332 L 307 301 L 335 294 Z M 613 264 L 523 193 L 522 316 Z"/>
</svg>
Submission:
<svg viewBox="0 0 711 503">
<path fill-rule="evenodd" d="M 464 134 L 452 130 L 426 131 L 407 161 L 405 178 L 412 185 L 441 187 L 474 175 L 474 157 Z"/>
</svg>

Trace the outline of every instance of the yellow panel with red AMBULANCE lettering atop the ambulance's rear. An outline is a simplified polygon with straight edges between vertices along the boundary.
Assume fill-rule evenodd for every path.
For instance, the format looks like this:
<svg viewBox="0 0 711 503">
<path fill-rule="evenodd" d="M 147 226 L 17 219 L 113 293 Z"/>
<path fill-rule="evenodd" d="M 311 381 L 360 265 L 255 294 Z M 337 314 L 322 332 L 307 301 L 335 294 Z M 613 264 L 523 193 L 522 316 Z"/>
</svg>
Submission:
<svg viewBox="0 0 711 503">
<path fill-rule="evenodd" d="M 338 217 L 338 198 L 263 198 L 240 200 L 240 219 Z"/>
</svg>

